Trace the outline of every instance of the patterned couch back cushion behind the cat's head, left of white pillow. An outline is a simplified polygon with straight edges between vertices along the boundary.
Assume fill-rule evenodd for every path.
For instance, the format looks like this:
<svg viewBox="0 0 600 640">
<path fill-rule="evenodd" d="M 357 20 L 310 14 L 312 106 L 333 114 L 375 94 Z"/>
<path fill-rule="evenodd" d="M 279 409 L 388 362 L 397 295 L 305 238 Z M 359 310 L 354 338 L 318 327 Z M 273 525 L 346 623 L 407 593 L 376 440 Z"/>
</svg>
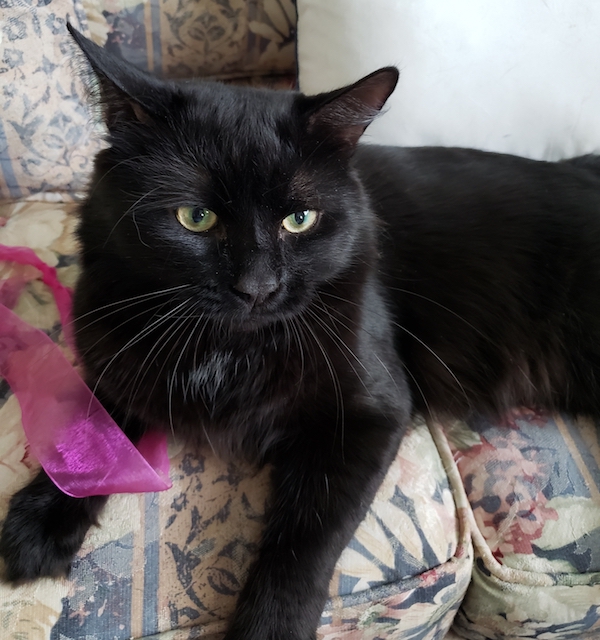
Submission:
<svg viewBox="0 0 600 640">
<path fill-rule="evenodd" d="M 158 75 L 294 85 L 292 0 L 3 0 L 0 8 L 0 200 L 81 191 L 100 149 L 103 129 L 86 105 L 67 20 Z"/>
</svg>

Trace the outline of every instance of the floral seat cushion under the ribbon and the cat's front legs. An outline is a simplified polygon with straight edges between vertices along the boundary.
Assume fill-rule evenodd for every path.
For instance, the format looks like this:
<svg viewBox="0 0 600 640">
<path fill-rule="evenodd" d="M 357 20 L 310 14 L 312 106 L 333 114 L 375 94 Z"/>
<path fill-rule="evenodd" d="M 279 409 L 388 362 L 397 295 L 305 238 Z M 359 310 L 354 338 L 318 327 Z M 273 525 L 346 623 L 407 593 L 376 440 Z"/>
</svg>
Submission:
<svg viewBox="0 0 600 640">
<path fill-rule="evenodd" d="M 33 248 L 72 285 L 75 208 L 74 202 L 0 205 L 0 243 Z M 0 278 L 0 302 L 45 330 L 72 358 L 52 296 L 35 269 L 0 263 Z M 0 421 L 1 517 L 10 495 L 37 467 L 5 384 Z M 70 580 L 0 585 L 0 637 L 187 640 L 223 632 L 257 549 L 268 469 L 241 469 L 210 450 L 187 451 L 176 443 L 170 458 L 173 488 L 113 496 Z M 340 558 L 321 637 L 426 639 L 446 633 L 473 562 L 466 503 L 457 510 L 453 496 L 461 494 L 449 483 L 448 466 L 451 454 L 442 462 L 426 425 L 415 423 Z"/>
</svg>

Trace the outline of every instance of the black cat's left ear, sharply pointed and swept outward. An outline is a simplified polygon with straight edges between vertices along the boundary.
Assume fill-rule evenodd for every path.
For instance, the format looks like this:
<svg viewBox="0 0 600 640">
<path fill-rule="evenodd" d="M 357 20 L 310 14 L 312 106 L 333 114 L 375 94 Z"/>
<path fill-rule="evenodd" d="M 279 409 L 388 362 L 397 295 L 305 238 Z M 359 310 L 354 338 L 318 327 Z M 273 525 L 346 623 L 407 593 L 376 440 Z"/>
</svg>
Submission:
<svg viewBox="0 0 600 640">
<path fill-rule="evenodd" d="M 98 79 L 100 104 L 109 130 L 123 122 L 150 124 L 161 117 L 164 83 L 109 53 L 72 25 L 67 24 L 67 28 Z"/>
</svg>

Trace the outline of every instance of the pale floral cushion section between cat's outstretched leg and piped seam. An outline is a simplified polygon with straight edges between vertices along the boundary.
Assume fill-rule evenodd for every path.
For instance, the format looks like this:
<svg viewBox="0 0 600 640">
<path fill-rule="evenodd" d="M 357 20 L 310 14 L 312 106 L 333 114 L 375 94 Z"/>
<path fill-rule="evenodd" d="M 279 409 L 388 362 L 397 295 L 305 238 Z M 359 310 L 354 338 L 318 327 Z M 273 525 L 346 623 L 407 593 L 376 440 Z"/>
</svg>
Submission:
<svg viewBox="0 0 600 640">
<path fill-rule="evenodd" d="M 319 638 L 433 640 L 448 631 L 473 555 L 467 503 L 446 475 L 451 454 L 441 453 L 427 425 L 416 422 L 338 562 L 330 585 L 337 597 L 325 608 Z"/>
</svg>

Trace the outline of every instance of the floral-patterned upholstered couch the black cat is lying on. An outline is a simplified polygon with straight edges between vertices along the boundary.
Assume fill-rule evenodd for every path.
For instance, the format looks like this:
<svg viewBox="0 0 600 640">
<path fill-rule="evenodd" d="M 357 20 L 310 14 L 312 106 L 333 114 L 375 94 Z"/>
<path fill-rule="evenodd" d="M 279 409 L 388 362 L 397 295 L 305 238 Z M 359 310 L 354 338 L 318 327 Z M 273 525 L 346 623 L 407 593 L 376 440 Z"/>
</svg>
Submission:
<svg viewBox="0 0 600 640">
<path fill-rule="evenodd" d="M 292 0 L 0 2 L 0 244 L 33 249 L 72 287 L 78 202 L 103 141 L 67 18 L 160 76 L 291 88 L 296 11 Z M 0 303 L 76 366 L 39 270 L 0 270 Z M 38 466 L 20 416 L 2 381 L 0 518 Z M 534 408 L 501 423 L 415 418 L 338 562 L 319 638 L 600 637 L 597 426 Z M 176 441 L 169 457 L 172 488 L 111 497 L 68 579 L 0 583 L 0 637 L 220 637 L 257 549 L 268 469 Z"/>
</svg>

